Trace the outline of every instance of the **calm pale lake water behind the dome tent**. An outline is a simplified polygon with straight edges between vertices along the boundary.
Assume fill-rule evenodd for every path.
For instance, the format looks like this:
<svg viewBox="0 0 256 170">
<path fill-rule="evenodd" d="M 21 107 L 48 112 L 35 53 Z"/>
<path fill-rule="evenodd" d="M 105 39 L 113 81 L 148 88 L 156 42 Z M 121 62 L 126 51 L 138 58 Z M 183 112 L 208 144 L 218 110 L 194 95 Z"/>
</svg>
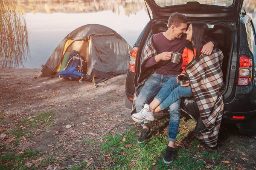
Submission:
<svg viewBox="0 0 256 170">
<path fill-rule="evenodd" d="M 18 3 L 26 11 L 29 32 L 30 58 L 24 68 L 41 68 L 57 45 L 74 29 L 86 24 L 101 24 L 119 33 L 134 45 L 149 21 L 142 2 L 87 2 L 87 3 Z M 244 2 L 247 14 L 256 27 L 256 3 Z M 254 7 L 253 7 L 254 6 Z"/>
</svg>

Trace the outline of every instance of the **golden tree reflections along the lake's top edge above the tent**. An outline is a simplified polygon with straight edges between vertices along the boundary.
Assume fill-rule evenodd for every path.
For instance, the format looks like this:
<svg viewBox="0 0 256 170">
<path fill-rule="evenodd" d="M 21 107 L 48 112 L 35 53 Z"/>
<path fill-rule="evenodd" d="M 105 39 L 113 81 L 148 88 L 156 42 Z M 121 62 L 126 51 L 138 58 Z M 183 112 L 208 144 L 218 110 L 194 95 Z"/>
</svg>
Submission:
<svg viewBox="0 0 256 170">
<path fill-rule="evenodd" d="M 26 13 L 66 13 L 66 14 L 75 14 L 75 13 L 92 13 L 99 11 L 111 10 L 116 12 L 119 10 L 119 6 L 122 6 L 125 9 L 125 14 L 135 14 L 144 8 L 145 3 L 141 1 L 97 1 L 97 2 L 81 2 L 72 0 L 62 0 L 62 1 L 46 1 L 33 0 L 33 3 L 28 3 L 27 0 L 15 0 L 15 3 L 23 8 Z"/>
</svg>

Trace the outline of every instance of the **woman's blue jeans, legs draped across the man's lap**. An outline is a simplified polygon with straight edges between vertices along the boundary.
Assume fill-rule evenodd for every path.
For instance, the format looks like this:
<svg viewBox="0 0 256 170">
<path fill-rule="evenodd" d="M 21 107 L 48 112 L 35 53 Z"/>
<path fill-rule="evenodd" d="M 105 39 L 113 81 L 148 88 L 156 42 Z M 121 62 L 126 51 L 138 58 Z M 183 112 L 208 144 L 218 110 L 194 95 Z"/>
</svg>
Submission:
<svg viewBox="0 0 256 170">
<path fill-rule="evenodd" d="M 179 86 L 175 77 L 166 82 L 155 98 L 161 103 L 159 107 L 163 110 L 169 105 L 172 105 L 172 103 L 176 102 L 181 97 L 191 96 L 193 95 L 190 86 Z"/>
</svg>

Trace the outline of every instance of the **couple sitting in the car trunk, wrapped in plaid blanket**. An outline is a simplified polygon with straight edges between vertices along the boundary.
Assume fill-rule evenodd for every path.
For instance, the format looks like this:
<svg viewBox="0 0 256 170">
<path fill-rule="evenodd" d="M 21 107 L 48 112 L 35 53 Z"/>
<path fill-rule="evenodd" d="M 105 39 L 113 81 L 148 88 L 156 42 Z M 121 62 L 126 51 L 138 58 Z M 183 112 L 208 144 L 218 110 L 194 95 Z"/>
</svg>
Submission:
<svg viewBox="0 0 256 170">
<path fill-rule="evenodd" d="M 180 98 L 194 96 L 208 130 L 196 137 L 214 147 L 223 114 L 221 91 L 224 83 L 221 71 L 223 54 L 219 49 L 213 49 L 207 24 L 192 22 L 186 31 L 186 17 L 174 13 L 169 17 L 168 26 L 166 32 L 152 35 L 145 46 L 141 67 L 154 67 L 154 73 L 137 86 L 136 91 L 140 91 L 134 98 L 137 113 L 132 114 L 132 119 L 143 126 L 138 142 L 144 142 L 151 133 L 148 123 L 154 120 L 153 114 L 169 108 L 169 144 L 163 161 L 170 164 L 174 160 L 174 142 L 180 123 Z M 182 63 L 171 62 L 174 51 L 182 53 Z M 189 77 L 185 85 L 178 84 L 179 74 Z"/>
</svg>

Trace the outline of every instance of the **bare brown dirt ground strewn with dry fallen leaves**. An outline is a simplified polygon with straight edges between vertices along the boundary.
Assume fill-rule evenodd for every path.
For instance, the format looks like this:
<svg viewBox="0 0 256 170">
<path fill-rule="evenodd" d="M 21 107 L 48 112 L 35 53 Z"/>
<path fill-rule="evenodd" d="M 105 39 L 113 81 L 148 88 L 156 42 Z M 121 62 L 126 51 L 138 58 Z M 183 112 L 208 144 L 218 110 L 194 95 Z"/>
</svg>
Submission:
<svg viewBox="0 0 256 170">
<path fill-rule="evenodd" d="M 131 126 L 139 127 L 132 121 L 130 110 L 125 108 L 126 74 L 95 86 L 92 82 L 79 83 L 57 77 L 34 78 L 39 71 L 0 68 L 2 154 L 6 153 L 3 149 L 3 145 L 6 145 L 9 150 L 21 153 L 33 150 L 61 162 L 50 165 L 48 169 L 68 168 L 79 160 L 97 167 L 102 158 L 95 150 L 105 134 L 122 135 Z M 40 113 L 50 113 L 52 116 L 41 121 L 40 125 L 29 126 L 29 121 L 34 122 Z M 50 122 L 51 125 L 47 124 Z M 160 133 L 165 133 L 167 126 Z M 12 135 L 15 128 L 26 130 L 26 133 Z M 18 143 L 14 144 L 17 139 Z M 186 140 L 176 146 L 184 146 L 182 143 L 188 143 L 190 139 Z M 97 143 L 90 144 L 88 141 Z M 256 136 L 243 136 L 235 126 L 223 125 L 218 148 L 223 151 L 222 160 L 230 164 L 230 169 L 256 169 Z M 26 163 L 27 167 L 39 161 Z M 112 163 L 110 159 L 99 166 L 110 166 Z"/>
</svg>

